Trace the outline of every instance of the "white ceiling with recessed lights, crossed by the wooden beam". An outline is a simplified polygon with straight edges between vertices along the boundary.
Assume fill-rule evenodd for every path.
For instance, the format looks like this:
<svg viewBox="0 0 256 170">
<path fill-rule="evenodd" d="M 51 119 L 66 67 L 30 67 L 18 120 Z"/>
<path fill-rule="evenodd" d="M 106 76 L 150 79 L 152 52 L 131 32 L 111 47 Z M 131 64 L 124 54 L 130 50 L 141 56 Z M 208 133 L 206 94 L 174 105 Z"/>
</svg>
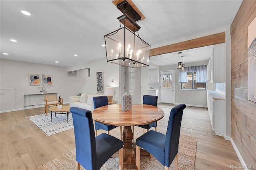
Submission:
<svg viewBox="0 0 256 170">
<path fill-rule="evenodd" d="M 230 26 L 242 0 L 133 2 L 146 17 L 137 22 L 140 38 L 155 48 Z M 121 15 L 112 0 L 1 0 L 0 57 L 65 67 L 104 58 L 104 35 L 119 28 L 116 18 Z M 209 58 L 209 49 L 200 49 L 182 51 L 184 63 Z M 154 56 L 150 62 L 170 65 L 179 61 L 178 56 L 178 52 Z"/>
</svg>

